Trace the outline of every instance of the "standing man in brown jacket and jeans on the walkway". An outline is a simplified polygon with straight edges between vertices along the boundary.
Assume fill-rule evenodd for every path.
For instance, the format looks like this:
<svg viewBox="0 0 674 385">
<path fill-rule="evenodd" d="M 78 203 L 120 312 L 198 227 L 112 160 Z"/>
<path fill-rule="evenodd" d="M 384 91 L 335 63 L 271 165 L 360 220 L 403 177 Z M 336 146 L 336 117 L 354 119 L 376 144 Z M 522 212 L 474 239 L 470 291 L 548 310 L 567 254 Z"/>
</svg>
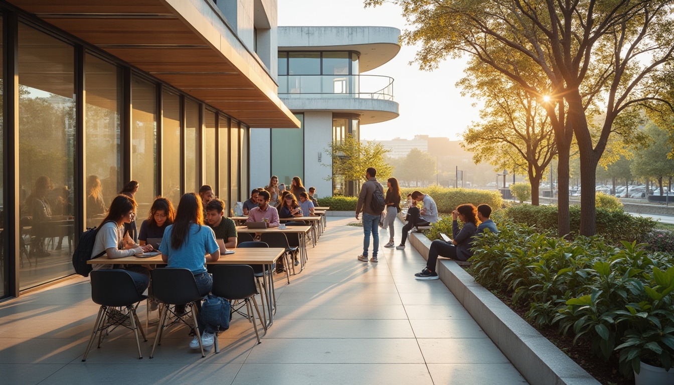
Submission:
<svg viewBox="0 0 674 385">
<path fill-rule="evenodd" d="M 365 233 L 365 238 L 363 239 L 363 254 L 358 256 L 358 260 L 361 262 L 367 262 L 367 249 L 370 246 L 370 233 L 372 233 L 373 238 L 373 249 L 372 249 L 372 258 L 371 262 L 377 261 L 377 251 L 379 251 L 379 216 L 384 212 L 386 208 L 386 202 L 384 202 L 384 186 L 381 183 L 377 182 L 377 169 L 374 167 L 368 167 L 365 171 L 365 177 L 367 181 L 363 183 L 361 187 L 361 194 L 358 196 L 358 206 L 356 206 L 356 219 L 359 219 L 358 216 L 363 212 L 363 233 Z"/>
</svg>

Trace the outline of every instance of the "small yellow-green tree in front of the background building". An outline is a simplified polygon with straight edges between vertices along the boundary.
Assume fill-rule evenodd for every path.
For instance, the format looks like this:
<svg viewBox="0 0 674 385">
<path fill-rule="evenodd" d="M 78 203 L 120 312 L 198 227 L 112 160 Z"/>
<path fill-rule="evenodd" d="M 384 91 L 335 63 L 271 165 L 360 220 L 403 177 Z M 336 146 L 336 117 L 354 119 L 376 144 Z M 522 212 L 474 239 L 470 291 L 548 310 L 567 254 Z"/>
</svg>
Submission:
<svg viewBox="0 0 674 385">
<path fill-rule="evenodd" d="M 388 179 L 393 171 L 391 165 L 384 159 L 390 150 L 381 143 L 371 141 L 361 143 L 353 136 L 347 135 L 344 140 L 330 142 L 326 151 L 332 154 L 332 165 L 323 166 L 332 167 L 332 175 L 343 177 L 344 181 L 364 182 L 365 170 L 368 167 L 377 169 L 379 180 Z M 332 176 L 325 179 L 331 181 Z"/>
</svg>

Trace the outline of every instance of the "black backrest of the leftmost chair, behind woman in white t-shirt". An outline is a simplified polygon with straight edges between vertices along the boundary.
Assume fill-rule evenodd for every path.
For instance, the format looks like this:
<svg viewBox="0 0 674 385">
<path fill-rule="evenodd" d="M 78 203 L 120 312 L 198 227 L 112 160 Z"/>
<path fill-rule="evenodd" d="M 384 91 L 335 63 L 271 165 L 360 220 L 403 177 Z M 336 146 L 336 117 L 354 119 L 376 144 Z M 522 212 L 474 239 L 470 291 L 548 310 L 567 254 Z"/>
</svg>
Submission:
<svg viewBox="0 0 674 385">
<path fill-rule="evenodd" d="M 128 306 L 144 296 L 138 294 L 133 278 L 126 270 L 93 270 L 91 276 L 91 299 L 98 305 Z"/>
</svg>

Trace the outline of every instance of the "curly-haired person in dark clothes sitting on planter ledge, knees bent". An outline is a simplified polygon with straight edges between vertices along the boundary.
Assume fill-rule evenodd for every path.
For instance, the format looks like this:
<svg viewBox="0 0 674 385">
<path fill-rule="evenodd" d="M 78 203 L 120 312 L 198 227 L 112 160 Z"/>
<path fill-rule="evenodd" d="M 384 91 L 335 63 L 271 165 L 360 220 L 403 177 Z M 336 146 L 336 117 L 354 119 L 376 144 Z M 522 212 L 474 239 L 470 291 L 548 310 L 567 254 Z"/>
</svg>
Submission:
<svg viewBox="0 0 674 385">
<path fill-rule="evenodd" d="M 461 230 L 456 219 L 460 219 L 464 223 Z M 450 258 L 452 260 L 467 261 L 472 257 L 472 250 L 470 250 L 472 237 L 477 233 L 477 208 L 472 204 L 462 204 L 452 211 L 452 242 L 433 241 L 428 251 L 428 260 L 426 267 L 415 274 L 415 278 L 419 280 L 437 279 L 437 272 L 435 272 L 435 263 L 438 256 Z"/>
</svg>

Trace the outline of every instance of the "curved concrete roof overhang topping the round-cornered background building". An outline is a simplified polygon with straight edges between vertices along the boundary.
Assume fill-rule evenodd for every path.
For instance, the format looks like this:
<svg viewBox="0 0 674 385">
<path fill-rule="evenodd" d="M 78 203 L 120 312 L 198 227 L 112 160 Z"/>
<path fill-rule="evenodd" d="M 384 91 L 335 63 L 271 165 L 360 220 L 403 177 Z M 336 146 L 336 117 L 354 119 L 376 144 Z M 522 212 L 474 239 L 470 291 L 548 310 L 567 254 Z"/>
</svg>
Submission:
<svg viewBox="0 0 674 385">
<path fill-rule="evenodd" d="M 278 27 L 278 51 L 357 51 L 363 73 L 396 57 L 399 37 L 393 27 Z"/>
</svg>

